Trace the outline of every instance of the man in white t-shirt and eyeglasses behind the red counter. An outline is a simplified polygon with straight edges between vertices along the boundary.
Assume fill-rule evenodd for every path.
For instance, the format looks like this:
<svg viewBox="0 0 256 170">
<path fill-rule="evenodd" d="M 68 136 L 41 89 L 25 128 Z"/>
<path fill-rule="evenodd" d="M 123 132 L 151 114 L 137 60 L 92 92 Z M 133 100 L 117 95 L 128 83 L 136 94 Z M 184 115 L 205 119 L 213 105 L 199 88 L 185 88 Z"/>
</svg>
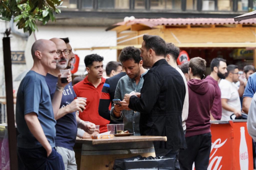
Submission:
<svg viewBox="0 0 256 170">
<path fill-rule="evenodd" d="M 241 102 L 239 94 L 244 93 L 244 82 L 239 80 L 238 67 L 236 65 L 228 65 L 228 73 L 225 79 L 220 81 L 222 116 L 221 120 L 230 120 L 230 116 L 234 113 L 236 117 L 241 116 Z M 240 87 L 234 82 L 240 81 Z"/>
</svg>

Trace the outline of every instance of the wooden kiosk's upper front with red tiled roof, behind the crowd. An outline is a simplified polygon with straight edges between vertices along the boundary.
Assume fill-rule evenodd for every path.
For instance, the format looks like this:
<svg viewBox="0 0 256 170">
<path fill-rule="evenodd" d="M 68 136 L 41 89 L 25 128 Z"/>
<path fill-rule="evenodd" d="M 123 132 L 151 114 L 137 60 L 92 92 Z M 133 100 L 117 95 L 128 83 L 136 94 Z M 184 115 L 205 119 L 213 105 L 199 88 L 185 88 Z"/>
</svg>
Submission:
<svg viewBox="0 0 256 170">
<path fill-rule="evenodd" d="M 109 26 L 106 31 L 116 31 L 117 46 L 75 50 L 117 49 L 118 56 L 126 46 L 141 47 L 143 34 L 161 36 L 181 49 L 256 47 L 256 18 L 241 22 L 234 22 L 234 18 L 135 18 Z M 255 50 L 251 60 L 256 66 Z"/>
</svg>

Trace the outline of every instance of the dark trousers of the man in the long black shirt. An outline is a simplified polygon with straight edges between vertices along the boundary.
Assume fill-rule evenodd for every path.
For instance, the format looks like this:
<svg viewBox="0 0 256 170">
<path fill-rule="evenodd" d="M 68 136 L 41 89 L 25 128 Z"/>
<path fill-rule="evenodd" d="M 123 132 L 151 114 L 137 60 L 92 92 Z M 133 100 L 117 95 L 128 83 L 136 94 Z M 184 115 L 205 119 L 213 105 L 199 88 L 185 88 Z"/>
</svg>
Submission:
<svg viewBox="0 0 256 170">
<path fill-rule="evenodd" d="M 174 168 L 179 170 L 179 149 L 178 150 L 166 150 L 166 149 L 157 149 L 155 150 L 156 156 L 165 156 L 169 158 L 174 158 Z"/>
</svg>

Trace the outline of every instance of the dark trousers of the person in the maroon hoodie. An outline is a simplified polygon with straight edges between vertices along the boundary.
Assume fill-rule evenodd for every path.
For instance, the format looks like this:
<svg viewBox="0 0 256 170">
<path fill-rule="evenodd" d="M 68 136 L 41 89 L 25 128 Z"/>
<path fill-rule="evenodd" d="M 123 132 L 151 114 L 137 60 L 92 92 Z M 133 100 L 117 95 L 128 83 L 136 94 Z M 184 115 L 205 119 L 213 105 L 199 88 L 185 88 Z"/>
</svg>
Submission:
<svg viewBox="0 0 256 170">
<path fill-rule="evenodd" d="M 211 133 L 186 137 L 187 149 L 179 150 L 181 170 L 207 170 L 211 152 Z"/>
</svg>

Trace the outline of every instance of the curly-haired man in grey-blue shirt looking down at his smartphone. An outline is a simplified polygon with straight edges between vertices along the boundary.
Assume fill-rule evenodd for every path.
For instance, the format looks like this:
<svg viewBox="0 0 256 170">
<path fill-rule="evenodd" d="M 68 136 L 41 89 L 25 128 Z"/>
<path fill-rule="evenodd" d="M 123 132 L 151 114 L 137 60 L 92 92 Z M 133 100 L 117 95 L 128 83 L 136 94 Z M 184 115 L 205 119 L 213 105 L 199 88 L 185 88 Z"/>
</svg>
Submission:
<svg viewBox="0 0 256 170">
<path fill-rule="evenodd" d="M 125 47 L 122 49 L 119 55 L 119 61 L 122 63 L 122 67 L 126 70 L 126 76 L 123 76 L 116 87 L 114 95 L 115 99 L 124 99 L 124 94 L 132 91 L 140 92 L 143 86 L 143 75 L 147 73 L 147 70 L 142 67 L 143 61 L 140 57 L 140 50 L 135 47 Z M 140 136 L 140 113 L 130 110 L 125 101 L 117 103 L 111 108 L 110 115 L 114 121 L 123 120 L 124 130 L 132 132 L 134 136 Z"/>
</svg>

